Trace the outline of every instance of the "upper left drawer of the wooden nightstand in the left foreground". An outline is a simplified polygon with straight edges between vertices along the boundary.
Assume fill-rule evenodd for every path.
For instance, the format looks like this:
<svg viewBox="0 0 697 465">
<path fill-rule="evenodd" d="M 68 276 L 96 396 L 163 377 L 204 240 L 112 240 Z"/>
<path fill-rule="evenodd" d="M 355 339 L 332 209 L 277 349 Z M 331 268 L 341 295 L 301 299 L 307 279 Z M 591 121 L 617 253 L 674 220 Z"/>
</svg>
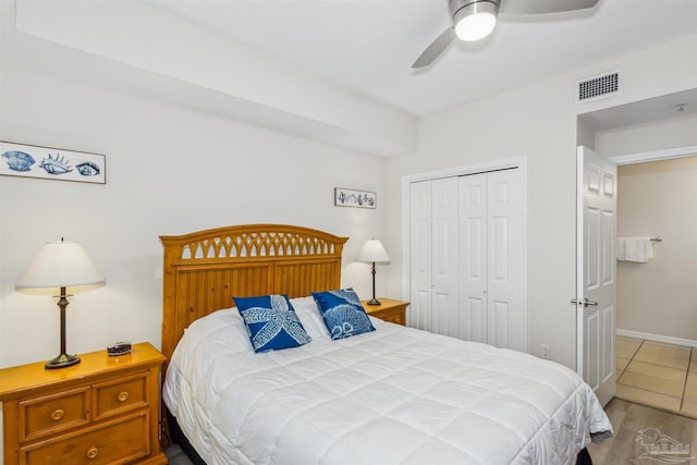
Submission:
<svg viewBox="0 0 697 465">
<path fill-rule="evenodd" d="M 89 388 L 20 402 L 22 439 L 35 439 L 89 423 Z"/>
</svg>

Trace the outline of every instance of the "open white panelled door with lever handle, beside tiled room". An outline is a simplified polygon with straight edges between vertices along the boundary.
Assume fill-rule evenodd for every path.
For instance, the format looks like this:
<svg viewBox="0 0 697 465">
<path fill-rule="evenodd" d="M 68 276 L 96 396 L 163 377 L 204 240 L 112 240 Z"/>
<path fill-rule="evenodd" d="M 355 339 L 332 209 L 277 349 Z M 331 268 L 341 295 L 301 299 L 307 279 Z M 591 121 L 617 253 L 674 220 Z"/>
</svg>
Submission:
<svg viewBox="0 0 697 465">
<path fill-rule="evenodd" d="M 586 147 L 577 152 L 577 370 L 606 405 L 614 396 L 614 259 L 617 168 Z"/>
</svg>

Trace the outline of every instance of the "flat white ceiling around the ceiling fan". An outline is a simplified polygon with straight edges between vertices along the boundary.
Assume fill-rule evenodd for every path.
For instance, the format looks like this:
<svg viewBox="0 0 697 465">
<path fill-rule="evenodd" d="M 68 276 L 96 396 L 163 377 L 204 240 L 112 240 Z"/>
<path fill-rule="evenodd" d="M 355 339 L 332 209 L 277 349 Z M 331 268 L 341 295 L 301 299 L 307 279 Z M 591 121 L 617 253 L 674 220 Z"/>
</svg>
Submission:
<svg viewBox="0 0 697 465">
<path fill-rule="evenodd" d="M 697 0 L 601 0 L 583 14 L 502 17 L 485 41 L 415 71 L 450 25 L 447 0 L 147 2 L 417 117 L 697 33 Z"/>
</svg>

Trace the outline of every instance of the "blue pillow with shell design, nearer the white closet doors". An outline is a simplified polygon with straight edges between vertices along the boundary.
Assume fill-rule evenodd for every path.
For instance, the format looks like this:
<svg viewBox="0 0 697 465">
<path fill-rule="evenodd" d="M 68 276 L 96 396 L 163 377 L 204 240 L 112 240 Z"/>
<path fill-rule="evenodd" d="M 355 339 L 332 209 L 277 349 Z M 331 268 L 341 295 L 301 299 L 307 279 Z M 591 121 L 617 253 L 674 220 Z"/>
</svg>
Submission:
<svg viewBox="0 0 697 465">
<path fill-rule="evenodd" d="M 353 289 L 313 292 L 331 339 L 343 339 L 375 331 L 370 318 Z"/>
</svg>

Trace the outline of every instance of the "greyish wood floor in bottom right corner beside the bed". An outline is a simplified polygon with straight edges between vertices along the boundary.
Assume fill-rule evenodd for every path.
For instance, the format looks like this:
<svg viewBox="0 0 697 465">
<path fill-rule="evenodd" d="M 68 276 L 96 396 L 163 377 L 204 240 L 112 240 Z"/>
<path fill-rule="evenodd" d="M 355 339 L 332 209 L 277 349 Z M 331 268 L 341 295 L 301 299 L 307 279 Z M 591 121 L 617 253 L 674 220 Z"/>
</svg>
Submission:
<svg viewBox="0 0 697 465">
<path fill-rule="evenodd" d="M 696 419 L 616 397 L 608 403 L 606 413 L 614 436 L 600 444 L 588 445 L 594 465 L 697 463 Z M 673 452 L 660 454 L 657 445 L 661 443 L 672 448 Z M 676 448 L 683 448 L 684 452 Z"/>
</svg>

